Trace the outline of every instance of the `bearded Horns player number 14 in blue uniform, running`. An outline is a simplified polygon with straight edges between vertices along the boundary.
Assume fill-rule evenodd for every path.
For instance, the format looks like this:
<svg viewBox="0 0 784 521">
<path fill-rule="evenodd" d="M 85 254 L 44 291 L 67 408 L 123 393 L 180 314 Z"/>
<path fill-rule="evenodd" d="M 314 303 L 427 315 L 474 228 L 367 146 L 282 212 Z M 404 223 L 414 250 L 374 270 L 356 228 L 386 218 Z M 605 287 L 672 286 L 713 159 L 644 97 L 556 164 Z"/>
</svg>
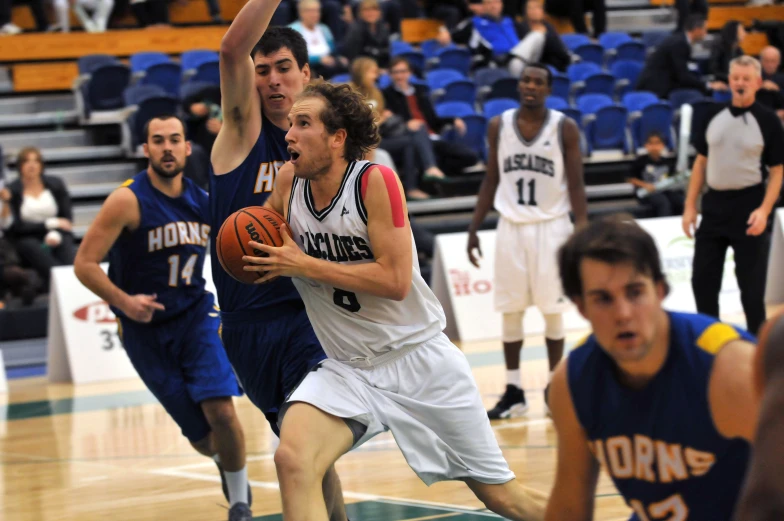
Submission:
<svg viewBox="0 0 784 521">
<path fill-rule="evenodd" d="M 190 154 L 176 116 L 147 124 L 149 165 L 106 199 L 74 263 L 76 276 L 117 315 L 144 383 L 191 445 L 221 470 L 229 521 L 249 521 L 241 395 L 202 267 L 210 234 L 207 193 L 185 179 Z M 109 274 L 99 263 L 109 254 Z"/>
</svg>

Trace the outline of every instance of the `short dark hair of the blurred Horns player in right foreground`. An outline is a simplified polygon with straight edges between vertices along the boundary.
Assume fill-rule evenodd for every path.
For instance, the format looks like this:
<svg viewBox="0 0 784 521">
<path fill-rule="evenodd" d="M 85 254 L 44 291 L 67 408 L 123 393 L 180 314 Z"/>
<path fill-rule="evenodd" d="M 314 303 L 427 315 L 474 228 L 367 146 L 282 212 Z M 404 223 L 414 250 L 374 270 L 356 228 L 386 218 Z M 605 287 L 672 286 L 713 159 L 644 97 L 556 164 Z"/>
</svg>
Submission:
<svg viewBox="0 0 784 521">
<path fill-rule="evenodd" d="M 653 237 L 631 215 L 617 214 L 591 221 L 561 246 L 558 251 L 561 284 L 572 300 L 583 296 L 583 259 L 611 265 L 630 264 L 654 282 L 664 283 L 665 294 L 670 291 Z"/>
</svg>

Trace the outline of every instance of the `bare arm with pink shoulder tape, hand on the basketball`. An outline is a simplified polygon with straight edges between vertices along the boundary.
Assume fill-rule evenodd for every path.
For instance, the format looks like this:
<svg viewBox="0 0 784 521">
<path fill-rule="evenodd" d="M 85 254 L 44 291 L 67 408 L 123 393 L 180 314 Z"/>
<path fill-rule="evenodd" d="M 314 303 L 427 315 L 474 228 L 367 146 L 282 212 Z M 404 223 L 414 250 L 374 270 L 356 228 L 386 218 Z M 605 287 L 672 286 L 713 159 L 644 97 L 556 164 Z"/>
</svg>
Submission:
<svg viewBox="0 0 784 521">
<path fill-rule="evenodd" d="M 374 167 L 365 174 L 363 189 L 373 262 L 345 265 L 316 259 L 305 254 L 288 233 L 282 233 L 284 244 L 279 248 L 251 242 L 268 256 L 243 257 L 256 264 L 245 269 L 267 272 L 257 283 L 277 276 L 302 277 L 346 291 L 403 300 L 411 287 L 413 255 L 403 186 L 391 170 Z"/>
</svg>

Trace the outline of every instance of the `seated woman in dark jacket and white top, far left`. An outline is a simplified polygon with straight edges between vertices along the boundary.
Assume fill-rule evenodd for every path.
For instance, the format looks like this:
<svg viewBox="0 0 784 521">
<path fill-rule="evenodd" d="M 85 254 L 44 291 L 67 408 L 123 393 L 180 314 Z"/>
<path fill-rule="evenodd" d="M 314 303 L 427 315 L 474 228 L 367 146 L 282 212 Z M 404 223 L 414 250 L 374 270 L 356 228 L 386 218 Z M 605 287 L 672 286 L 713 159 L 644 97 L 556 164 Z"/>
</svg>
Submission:
<svg viewBox="0 0 784 521">
<path fill-rule="evenodd" d="M 23 148 L 16 164 L 19 179 L 8 187 L 13 218 L 8 236 L 48 289 L 49 271 L 73 264 L 76 255 L 71 198 L 61 179 L 44 175 L 37 148 Z"/>
</svg>

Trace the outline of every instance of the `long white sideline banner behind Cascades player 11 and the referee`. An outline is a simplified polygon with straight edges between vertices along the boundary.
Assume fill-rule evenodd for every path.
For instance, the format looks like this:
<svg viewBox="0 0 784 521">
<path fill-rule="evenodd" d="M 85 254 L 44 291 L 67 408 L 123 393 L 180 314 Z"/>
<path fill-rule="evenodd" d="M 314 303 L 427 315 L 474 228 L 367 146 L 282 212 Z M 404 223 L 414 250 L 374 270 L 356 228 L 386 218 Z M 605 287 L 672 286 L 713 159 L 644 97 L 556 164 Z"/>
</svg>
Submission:
<svg viewBox="0 0 784 521">
<path fill-rule="evenodd" d="M 665 307 L 673 311 L 696 311 L 691 289 L 694 240 L 684 235 L 681 218 L 639 219 L 637 222 L 651 234 L 659 250 L 664 273 L 670 284 L 670 294 L 664 301 Z M 483 253 L 479 269 L 468 261 L 467 233 L 442 234 L 436 237 L 432 287 L 447 316 L 445 332 L 453 340 L 466 342 L 501 338 L 501 314 L 497 313 L 493 306 L 495 233 L 495 230 L 479 232 Z M 784 257 L 784 242 L 781 247 Z M 719 296 L 722 313 L 738 313 L 743 309 L 733 259 L 733 252 L 729 250 Z M 556 262 L 556 259 L 553 259 L 553 262 Z M 589 326 L 577 310 L 572 308 L 564 314 L 564 327 L 567 331 L 574 331 L 585 330 Z M 538 310 L 529 308 L 525 314 L 523 330 L 526 335 L 544 332 L 544 320 Z"/>
</svg>

